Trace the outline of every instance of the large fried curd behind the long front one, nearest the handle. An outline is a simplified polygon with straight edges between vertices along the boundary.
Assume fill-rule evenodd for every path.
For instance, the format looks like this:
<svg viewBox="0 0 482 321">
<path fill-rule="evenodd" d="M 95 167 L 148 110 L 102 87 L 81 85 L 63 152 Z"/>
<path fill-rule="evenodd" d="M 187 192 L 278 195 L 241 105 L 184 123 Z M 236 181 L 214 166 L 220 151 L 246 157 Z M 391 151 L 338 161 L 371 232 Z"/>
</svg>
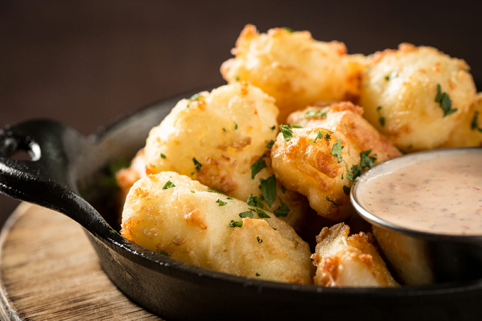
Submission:
<svg viewBox="0 0 482 321">
<path fill-rule="evenodd" d="M 277 115 L 274 99 L 246 82 L 183 99 L 149 133 L 147 173 L 175 171 L 243 201 L 263 196 L 296 230 L 308 202 L 274 177 L 267 145 L 276 139 Z"/>
</svg>

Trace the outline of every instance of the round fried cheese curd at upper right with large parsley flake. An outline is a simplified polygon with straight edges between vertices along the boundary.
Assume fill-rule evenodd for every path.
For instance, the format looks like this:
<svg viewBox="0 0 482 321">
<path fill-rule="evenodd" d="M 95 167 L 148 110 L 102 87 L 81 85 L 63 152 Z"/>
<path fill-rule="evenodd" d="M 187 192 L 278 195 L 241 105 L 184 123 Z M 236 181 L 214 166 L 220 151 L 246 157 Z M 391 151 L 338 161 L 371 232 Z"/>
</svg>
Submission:
<svg viewBox="0 0 482 321">
<path fill-rule="evenodd" d="M 475 97 L 469 65 L 402 43 L 373 55 L 362 74 L 364 117 L 403 152 L 433 149 L 461 126 Z"/>
</svg>

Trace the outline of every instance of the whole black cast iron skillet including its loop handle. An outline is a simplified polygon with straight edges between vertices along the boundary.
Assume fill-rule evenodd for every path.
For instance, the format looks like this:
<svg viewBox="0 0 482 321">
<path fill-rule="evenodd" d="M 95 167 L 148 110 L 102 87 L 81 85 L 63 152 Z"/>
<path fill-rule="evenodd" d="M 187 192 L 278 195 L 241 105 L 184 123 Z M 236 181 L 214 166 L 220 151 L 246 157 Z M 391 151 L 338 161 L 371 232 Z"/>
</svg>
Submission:
<svg viewBox="0 0 482 321">
<path fill-rule="evenodd" d="M 472 320 L 482 314 L 482 280 L 400 288 L 294 285 L 203 269 L 124 239 L 113 230 L 118 231 L 113 213 L 103 210 L 109 200 L 97 182 L 109 162 L 133 157 L 150 128 L 184 97 L 189 95 L 143 109 L 99 136 L 83 137 L 49 120 L 1 130 L 0 192 L 80 223 L 112 282 L 168 320 Z M 28 151 L 32 160 L 10 159 L 18 150 Z"/>
</svg>

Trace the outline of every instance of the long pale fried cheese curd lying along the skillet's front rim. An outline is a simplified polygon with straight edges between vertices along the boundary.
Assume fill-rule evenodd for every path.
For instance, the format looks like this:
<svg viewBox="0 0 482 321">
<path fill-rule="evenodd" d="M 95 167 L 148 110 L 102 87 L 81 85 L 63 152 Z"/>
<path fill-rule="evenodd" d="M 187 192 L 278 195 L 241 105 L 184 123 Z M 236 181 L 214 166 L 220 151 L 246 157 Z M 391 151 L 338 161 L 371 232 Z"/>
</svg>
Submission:
<svg viewBox="0 0 482 321">
<path fill-rule="evenodd" d="M 308 244 L 285 221 L 250 208 L 187 176 L 161 172 L 130 189 L 121 234 L 149 250 L 204 268 L 312 283 Z"/>
</svg>

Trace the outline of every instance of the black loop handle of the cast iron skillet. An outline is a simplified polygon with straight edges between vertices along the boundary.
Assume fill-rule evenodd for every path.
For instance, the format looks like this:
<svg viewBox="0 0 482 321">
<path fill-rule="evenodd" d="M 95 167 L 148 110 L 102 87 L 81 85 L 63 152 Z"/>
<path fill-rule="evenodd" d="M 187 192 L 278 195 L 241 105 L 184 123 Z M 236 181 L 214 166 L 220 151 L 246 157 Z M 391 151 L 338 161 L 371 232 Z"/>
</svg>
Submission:
<svg viewBox="0 0 482 321">
<path fill-rule="evenodd" d="M 50 120 L 31 120 L 0 130 L 0 193 L 66 214 L 93 233 L 111 230 L 77 192 L 75 179 L 86 138 Z M 31 160 L 12 159 L 27 151 Z"/>
</svg>

